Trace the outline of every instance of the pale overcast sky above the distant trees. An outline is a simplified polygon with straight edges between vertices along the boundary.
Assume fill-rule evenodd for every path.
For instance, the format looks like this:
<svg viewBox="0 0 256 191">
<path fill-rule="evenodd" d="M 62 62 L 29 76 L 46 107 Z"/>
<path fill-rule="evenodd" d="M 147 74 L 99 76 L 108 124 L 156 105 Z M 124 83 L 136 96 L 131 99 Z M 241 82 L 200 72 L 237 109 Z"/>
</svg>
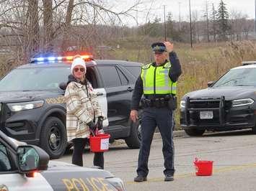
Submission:
<svg viewBox="0 0 256 191">
<path fill-rule="evenodd" d="M 127 8 L 129 5 L 134 4 L 138 0 L 118 0 L 113 6 L 115 10 L 121 10 Z M 173 19 L 179 21 L 179 15 L 181 20 L 188 20 L 189 18 L 189 0 L 141 0 L 144 3 L 138 6 L 138 14 L 136 17 L 136 11 L 132 11 L 131 14 L 135 18 L 138 18 L 138 24 L 144 24 L 146 22 L 146 14 L 149 13 L 149 19 L 153 20 L 155 17 L 159 17 L 164 21 L 164 5 L 166 15 L 169 11 L 172 12 Z M 206 10 L 206 0 L 190 0 L 191 11 L 198 11 L 199 17 L 203 16 L 203 11 Z M 112 1 L 113 2 L 113 1 Z M 153 2 L 153 3 L 152 3 Z M 212 4 L 216 7 L 219 6 L 220 0 L 207 0 L 208 9 L 211 12 Z M 242 14 L 247 14 L 250 19 L 255 18 L 255 0 L 224 0 L 229 12 L 232 10 L 241 11 Z M 180 5 L 180 9 L 179 9 Z M 180 10 L 180 11 L 179 11 Z M 180 13 L 180 14 L 179 14 Z M 131 18 L 123 19 L 124 24 L 129 26 L 136 26 L 136 20 Z"/>
</svg>

